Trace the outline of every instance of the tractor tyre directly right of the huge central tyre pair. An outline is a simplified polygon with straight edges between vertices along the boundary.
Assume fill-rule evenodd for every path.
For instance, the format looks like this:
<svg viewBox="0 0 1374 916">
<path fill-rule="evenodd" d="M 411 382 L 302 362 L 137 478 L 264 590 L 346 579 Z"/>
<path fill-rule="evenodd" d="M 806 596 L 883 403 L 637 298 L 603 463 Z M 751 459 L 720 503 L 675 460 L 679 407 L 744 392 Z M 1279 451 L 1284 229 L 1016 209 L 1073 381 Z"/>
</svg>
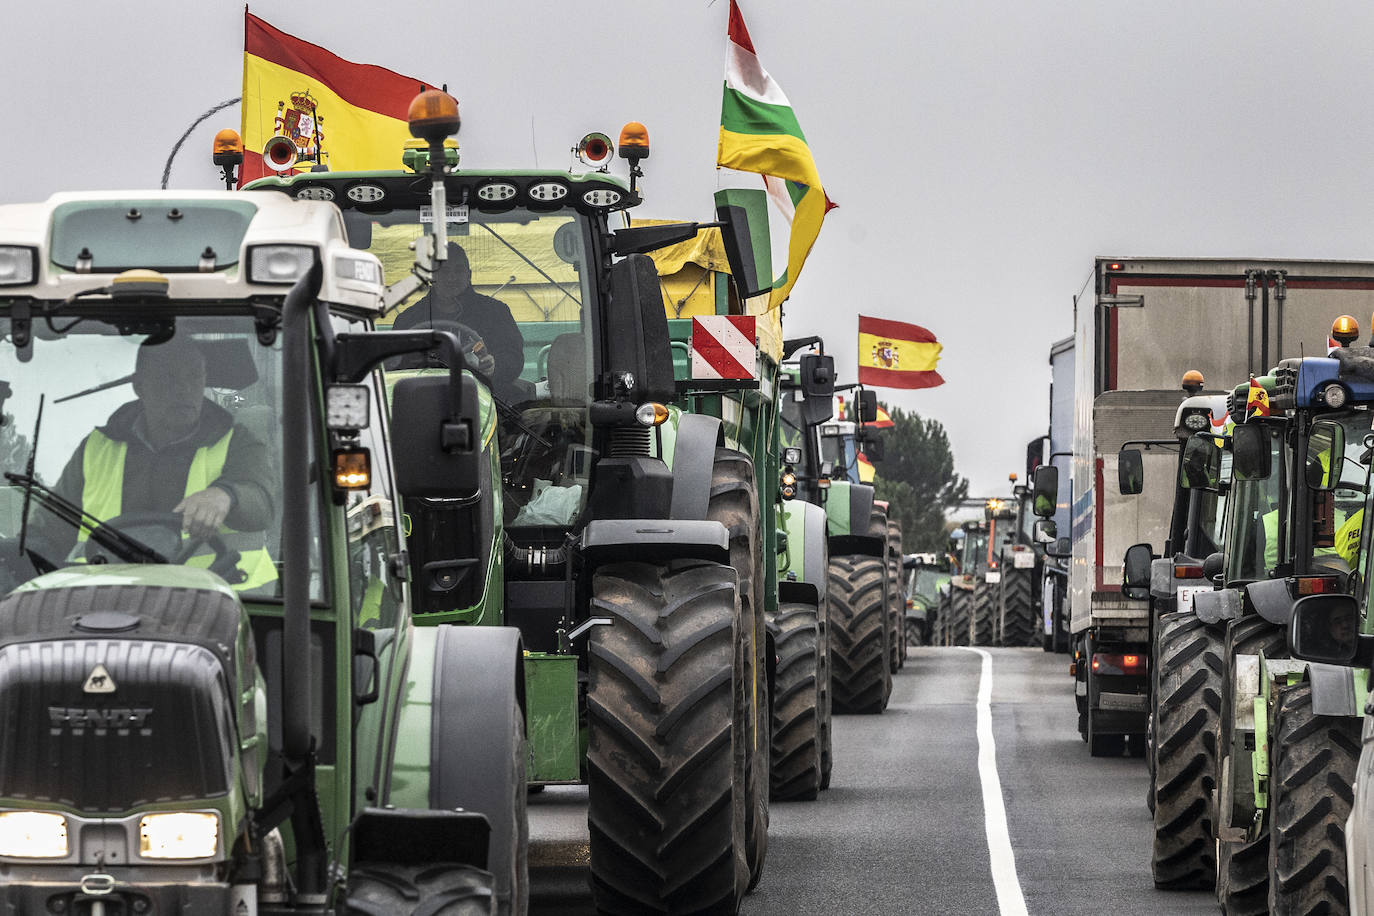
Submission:
<svg viewBox="0 0 1374 916">
<path fill-rule="evenodd" d="M 772 773 L 775 799 L 809 802 L 820 792 L 819 636 L 815 604 L 778 608 Z"/>
</svg>

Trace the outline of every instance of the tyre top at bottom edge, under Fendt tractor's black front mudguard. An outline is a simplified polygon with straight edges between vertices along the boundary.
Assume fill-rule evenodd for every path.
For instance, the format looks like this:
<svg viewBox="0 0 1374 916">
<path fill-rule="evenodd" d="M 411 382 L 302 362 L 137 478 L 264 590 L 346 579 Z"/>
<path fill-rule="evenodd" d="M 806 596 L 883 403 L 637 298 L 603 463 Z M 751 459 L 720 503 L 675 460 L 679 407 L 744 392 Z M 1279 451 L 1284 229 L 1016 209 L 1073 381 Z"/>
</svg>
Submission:
<svg viewBox="0 0 1374 916">
<path fill-rule="evenodd" d="M 359 862 L 348 873 L 349 916 L 488 916 L 491 872 L 471 865 Z"/>
</svg>

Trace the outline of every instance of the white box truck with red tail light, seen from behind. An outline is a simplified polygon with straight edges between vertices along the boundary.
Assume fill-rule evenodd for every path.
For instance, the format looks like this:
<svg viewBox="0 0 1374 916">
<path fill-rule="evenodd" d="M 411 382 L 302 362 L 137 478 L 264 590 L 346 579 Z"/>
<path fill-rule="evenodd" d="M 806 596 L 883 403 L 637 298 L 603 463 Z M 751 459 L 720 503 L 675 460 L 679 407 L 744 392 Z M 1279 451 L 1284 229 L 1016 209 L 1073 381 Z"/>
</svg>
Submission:
<svg viewBox="0 0 1374 916">
<path fill-rule="evenodd" d="M 1173 552 L 1176 444 L 1143 449 L 1140 496 L 1120 493 L 1117 453 L 1128 442 L 1173 439 L 1189 369 L 1208 391 L 1230 390 L 1281 357 L 1325 356 L 1331 319 L 1371 309 L 1374 262 L 1094 261 L 1074 298 L 1069 562 L 1079 731 L 1094 755 L 1145 751 L 1154 621 L 1149 597 L 1123 591 L 1124 556 L 1138 542 L 1156 556 Z M 1136 575 L 1149 595 L 1149 564 Z"/>
</svg>

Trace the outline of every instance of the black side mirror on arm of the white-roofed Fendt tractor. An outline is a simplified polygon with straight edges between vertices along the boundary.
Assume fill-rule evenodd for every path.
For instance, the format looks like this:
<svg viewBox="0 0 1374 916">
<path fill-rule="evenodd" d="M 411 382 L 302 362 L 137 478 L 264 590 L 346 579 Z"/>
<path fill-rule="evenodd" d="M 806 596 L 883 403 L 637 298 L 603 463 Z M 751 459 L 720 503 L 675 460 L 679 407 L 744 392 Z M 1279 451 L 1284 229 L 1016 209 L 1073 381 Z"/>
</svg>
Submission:
<svg viewBox="0 0 1374 916">
<path fill-rule="evenodd" d="M 460 372 L 460 369 L 453 369 Z M 401 496 L 466 499 L 481 483 L 477 379 L 462 372 L 460 404 L 444 375 L 401 379 L 392 391 L 392 457 Z"/>
</svg>

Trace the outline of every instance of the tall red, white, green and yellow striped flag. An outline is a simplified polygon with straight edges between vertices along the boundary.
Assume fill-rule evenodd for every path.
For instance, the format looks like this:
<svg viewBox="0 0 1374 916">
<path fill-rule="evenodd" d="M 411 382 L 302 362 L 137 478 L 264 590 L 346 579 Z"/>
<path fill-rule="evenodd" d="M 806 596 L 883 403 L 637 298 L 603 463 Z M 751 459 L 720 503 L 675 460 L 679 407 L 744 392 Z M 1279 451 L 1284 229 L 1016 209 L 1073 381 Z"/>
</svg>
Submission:
<svg viewBox="0 0 1374 916">
<path fill-rule="evenodd" d="M 725 41 L 725 92 L 720 104 L 716 165 L 764 176 L 768 198 L 791 224 L 787 271 L 774 282 L 768 308 L 791 293 L 820 224 L 835 205 L 826 198 L 816 161 L 791 103 L 754 54 L 739 4 L 730 0 Z"/>
</svg>

